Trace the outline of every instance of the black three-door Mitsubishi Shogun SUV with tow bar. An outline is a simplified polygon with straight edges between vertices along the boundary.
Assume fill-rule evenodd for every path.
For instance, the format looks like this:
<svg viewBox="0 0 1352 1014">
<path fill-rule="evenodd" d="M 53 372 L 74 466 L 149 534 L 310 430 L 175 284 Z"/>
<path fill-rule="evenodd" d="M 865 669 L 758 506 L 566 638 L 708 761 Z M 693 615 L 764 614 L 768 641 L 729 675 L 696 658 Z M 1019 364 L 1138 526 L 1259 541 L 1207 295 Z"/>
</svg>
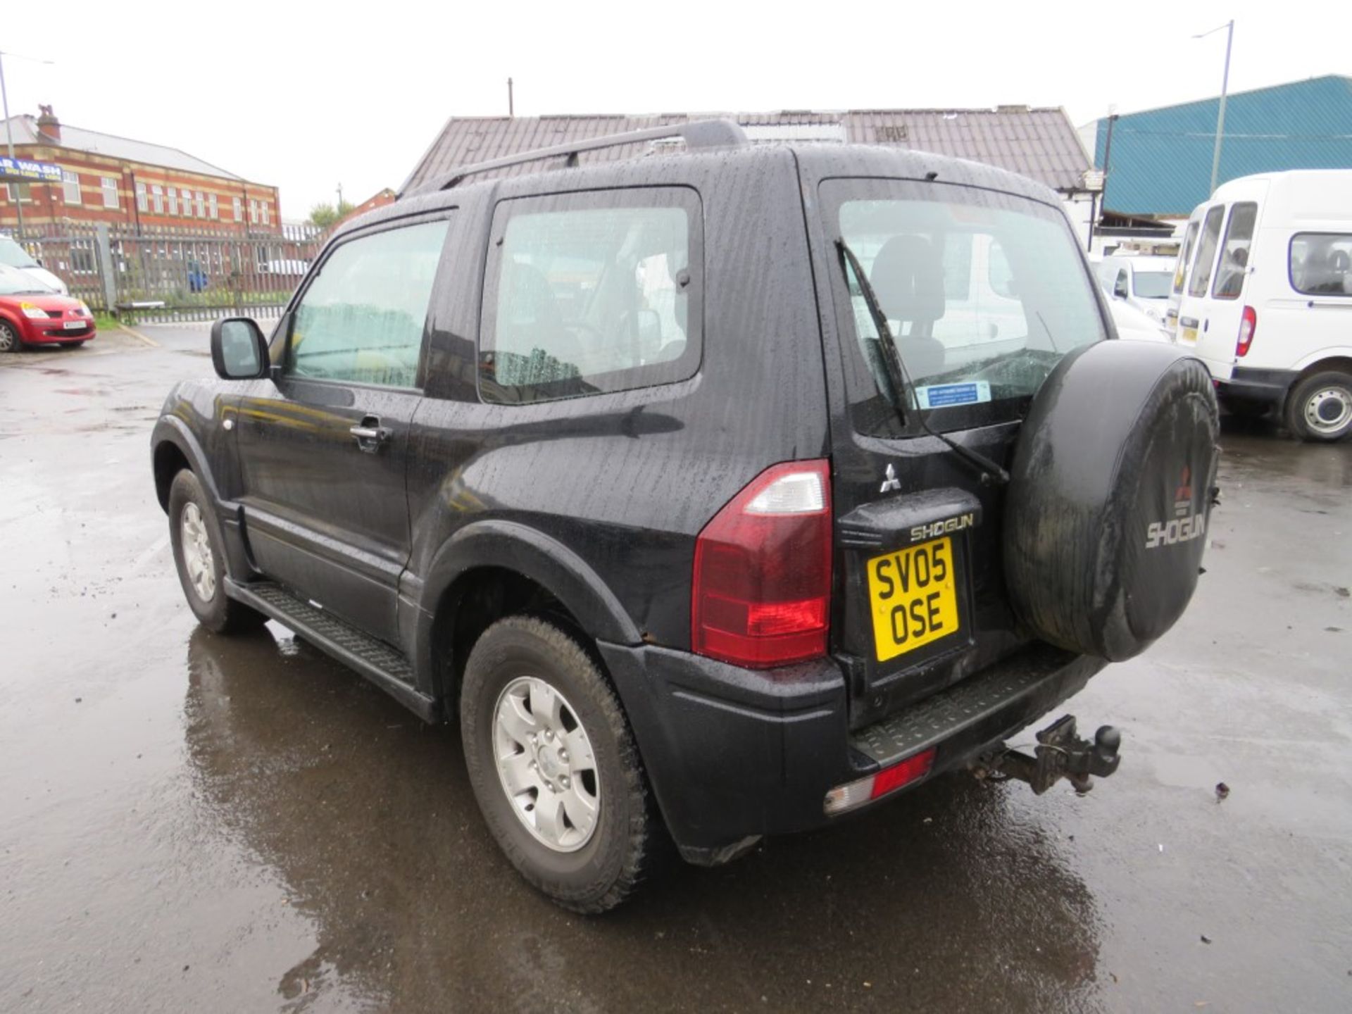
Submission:
<svg viewBox="0 0 1352 1014">
<path fill-rule="evenodd" d="M 1005 741 L 1199 572 L 1205 366 L 1115 341 L 1056 195 L 983 165 L 704 122 L 466 166 L 211 350 L 153 434 L 193 612 L 458 721 L 577 911 L 667 842 L 1111 773 L 1110 727 Z"/>
</svg>

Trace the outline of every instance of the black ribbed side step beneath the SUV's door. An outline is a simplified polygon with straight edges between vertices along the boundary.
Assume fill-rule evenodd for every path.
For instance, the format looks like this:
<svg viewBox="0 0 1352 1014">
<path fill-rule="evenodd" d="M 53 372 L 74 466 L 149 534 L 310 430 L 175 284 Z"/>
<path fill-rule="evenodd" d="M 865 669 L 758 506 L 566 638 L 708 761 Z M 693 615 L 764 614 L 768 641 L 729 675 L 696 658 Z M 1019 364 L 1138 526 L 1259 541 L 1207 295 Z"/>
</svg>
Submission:
<svg viewBox="0 0 1352 1014">
<path fill-rule="evenodd" d="M 425 722 L 441 718 L 435 699 L 414 687 L 412 665 L 384 641 L 272 581 L 241 584 L 226 579 L 226 595 L 295 630 L 319 650 L 360 672 Z"/>
</svg>

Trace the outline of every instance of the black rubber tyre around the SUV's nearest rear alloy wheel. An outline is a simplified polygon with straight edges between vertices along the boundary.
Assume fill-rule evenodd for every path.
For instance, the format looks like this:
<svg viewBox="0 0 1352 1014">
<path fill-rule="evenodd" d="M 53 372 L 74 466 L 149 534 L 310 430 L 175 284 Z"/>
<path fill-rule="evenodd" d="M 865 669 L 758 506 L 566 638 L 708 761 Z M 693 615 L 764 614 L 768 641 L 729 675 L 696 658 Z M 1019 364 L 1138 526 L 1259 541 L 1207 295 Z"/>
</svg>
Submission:
<svg viewBox="0 0 1352 1014">
<path fill-rule="evenodd" d="M 576 852 L 558 852 L 525 826 L 499 776 L 499 698 L 535 676 L 556 688 L 591 740 L 599 779 L 598 818 Z M 557 904 L 581 914 L 614 909 L 652 872 L 665 834 L 638 748 L 600 664 L 557 623 L 527 615 L 488 627 L 465 664 L 460 729 L 469 783 L 488 829 L 516 871 Z"/>
</svg>

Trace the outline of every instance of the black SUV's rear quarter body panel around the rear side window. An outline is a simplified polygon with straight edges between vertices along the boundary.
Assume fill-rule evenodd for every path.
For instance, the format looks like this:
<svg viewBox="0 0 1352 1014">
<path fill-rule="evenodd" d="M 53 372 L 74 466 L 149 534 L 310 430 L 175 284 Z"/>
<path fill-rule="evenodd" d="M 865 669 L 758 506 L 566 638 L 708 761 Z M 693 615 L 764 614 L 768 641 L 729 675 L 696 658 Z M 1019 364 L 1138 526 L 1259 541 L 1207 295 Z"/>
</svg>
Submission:
<svg viewBox="0 0 1352 1014">
<path fill-rule="evenodd" d="M 696 375 L 538 404 L 483 403 L 476 343 L 496 201 L 641 185 L 699 193 L 704 337 Z M 822 457 L 827 448 L 792 155 L 652 158 L 503 181 L 466 199 L 453 228 L 453 262 L 434 297 L 429 396 L 410 442 L 411 571 L 427 579 L 439 550 L 468 525 L 515 522 L 584 561 L 644 641 L 687 648 L 699 530 L 768 465 Z M 425 611 L 435 607 L 439 581 L 423 588 Z"/>
</svg>

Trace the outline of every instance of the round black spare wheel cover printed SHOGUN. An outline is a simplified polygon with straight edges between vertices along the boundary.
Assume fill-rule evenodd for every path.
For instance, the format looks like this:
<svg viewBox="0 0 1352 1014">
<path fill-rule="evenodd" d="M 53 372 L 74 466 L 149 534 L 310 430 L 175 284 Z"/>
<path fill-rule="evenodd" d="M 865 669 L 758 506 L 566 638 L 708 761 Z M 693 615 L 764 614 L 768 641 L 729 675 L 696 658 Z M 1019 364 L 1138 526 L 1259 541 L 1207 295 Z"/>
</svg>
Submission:
<svg viewBox="0 0 1352 1014">
<path fill-rule="evenodd" d="M 1010 600 L 1034 634 L 1122 661 L 1192 598 L 1220 434 L 1202 362 L 1107 341 L 1069 354 L 1019 434 L 1005 511 Z"/>
</svg>

